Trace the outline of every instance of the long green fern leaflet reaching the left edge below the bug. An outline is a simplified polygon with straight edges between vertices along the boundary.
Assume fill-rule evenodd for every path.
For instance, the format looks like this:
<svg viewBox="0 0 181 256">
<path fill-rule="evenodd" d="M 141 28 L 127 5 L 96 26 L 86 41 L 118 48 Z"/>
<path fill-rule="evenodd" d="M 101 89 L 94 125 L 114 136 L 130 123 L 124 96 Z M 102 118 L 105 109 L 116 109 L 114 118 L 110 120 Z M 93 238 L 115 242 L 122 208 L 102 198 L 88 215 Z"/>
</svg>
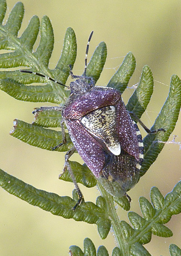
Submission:
<svg viewBox="0 0 181 256">
<path fill-rule="evenodd" d="M 78 201 L 76 191 L 73 190 L 73 199 L 71 197 L 60 197 L 58 194 L 50 193 L 26 184 L 0 169 L 0 186 L 8 193 L 38 206 L 41 209 L 51 212 L 53 215 L 64 217 L 65 219 L 74 219 L 76 221 L 85 221 L 98 226 L 98 232 L 102 239 L 105 239 L 111 228 L 111 221 L 105 207 L 105 199 L 98 197 L 96 204 L 93 202 L 84 202 L 79 209 L 73 211 L 73 207 Z"/>
</svg>

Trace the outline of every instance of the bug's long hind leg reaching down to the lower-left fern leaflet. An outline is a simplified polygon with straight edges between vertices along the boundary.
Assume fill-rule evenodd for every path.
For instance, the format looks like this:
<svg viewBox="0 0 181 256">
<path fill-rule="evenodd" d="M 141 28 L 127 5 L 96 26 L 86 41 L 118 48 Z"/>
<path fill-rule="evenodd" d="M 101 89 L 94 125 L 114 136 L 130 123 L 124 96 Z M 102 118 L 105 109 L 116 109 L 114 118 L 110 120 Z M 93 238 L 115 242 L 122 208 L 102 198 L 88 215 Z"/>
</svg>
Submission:
<svg viewBox="0 0 181 256">
<path fill-rule="evenodd" d="M 72 178 L 72 180 L 73 180 L 73 183 L 74 183 L 74 185 L 75 185 L 75 189 L 76 189 L 76 191 L 77 191 L 77 194 L 78 194 L 78 202 L 75 204 L 75 206 L 73 207 L 73 210 L 75 211 L 75 208 L 78 206 L 78 205 L 80 205 L 81 204 L 81 202 L 83 201 L 83 194 L 82 194 L 82 192 L 80 191 L 80 189 L 79 189 L 79 186 L 78 186 L 78 184 L 77 184 L 77 181 L 76 181 L 76 179 L 75 179 L 75 176 L 74 176 L 74 174 L 73 174 L 73 171 L 72 171 L 72 169 L 71 169 L 71 167 L 70 167 L 70 163 L 69 163 L 69 158 L 70 158 L 70 156 L 71 155 L 73 155 L 73 153 L 75 153 L 75 151 L 76 151 L 76 148 L 75 148 L 75 146 L 73 146 L 72 148 L 70 148 L 70 150 L 66 153 L 66 155 L 65 155 L 65 165 L 64 165 L 64 169 L 65 168 L 67 168 L 68 169 L 68 171 L 69 171 L 69 173 L 70 173 L 70 176 L 71 176 L 71 178 Z"/>
</svg>

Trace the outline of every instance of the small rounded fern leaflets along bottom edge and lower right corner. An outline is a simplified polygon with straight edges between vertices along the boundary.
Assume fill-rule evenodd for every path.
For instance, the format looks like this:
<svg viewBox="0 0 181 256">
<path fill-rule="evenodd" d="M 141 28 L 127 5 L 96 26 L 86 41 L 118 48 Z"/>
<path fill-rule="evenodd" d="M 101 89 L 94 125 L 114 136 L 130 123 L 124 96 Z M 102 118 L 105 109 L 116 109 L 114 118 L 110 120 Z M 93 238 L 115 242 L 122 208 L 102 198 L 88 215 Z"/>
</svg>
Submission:
<svg viewBox="0 0 181 256">
<path fill-rule="evenodd" d="M 151 256 L 143 245 L 150 242 L 152 234 L 161 237 L 170 237 L 173 235 L 172 231 L 163 224 L 167 223 L 172 215 L 181 212 L 181 182 L 176 184 L 165 198 L 156 187 L 153 187 L 150 197 L 152 203 L 145 197 L 140 197 L 139 203 L 143 217 L 136 212 L 128 212 L 128 218 L 133 228 L 125 221 L 117 223 L 117 229 L 122 230 L 120 238 L 120 248 L 122 248 L 122 251 L 120 251 L 120 248 L 115 247 L 112 256 L 130 255 L 130 253 L 133 256 Z M 110 202 L 107 203 L 110 205 Z M 113 225 L 113 218 L 111 220 Z M 85 253 L 87 247 L 89 248 L 90 254 Z M 101 255 L 108 255 L 105 247 L 102 250 L 105 254 Z M 89 238 L 85 238 L 84 240 L 84 252 L 78 246 L 70 246 L 70 251 L 73 256 L 79 255 L 78 252 L 80 252 L 80 255 L 99 255 L 98 251 L 96 253 L 96 248 Z M 180 252 L 180 248 L 176 245 L 170 246 L 171 256 L 178 256 Z"/>
</svg>

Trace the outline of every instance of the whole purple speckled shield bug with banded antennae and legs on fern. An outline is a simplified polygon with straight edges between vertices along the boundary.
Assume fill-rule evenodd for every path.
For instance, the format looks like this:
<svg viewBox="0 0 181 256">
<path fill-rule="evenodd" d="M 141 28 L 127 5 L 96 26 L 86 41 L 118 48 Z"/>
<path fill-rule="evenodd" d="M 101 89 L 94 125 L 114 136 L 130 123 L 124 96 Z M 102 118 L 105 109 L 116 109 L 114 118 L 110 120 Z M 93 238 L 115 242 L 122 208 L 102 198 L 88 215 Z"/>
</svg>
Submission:
<svg viewBox="0 0 181 256">
<path fill-rule="evenodd" d="M 143 162 L 141 133 L 126 110 L 121 93 L 113 88 L 95 86 L 93 78 L 86 77 L 87 54 L 92 35 L 93 31 L 88 39 L 83 76 L 73 75 L 70 66 L 70 75 L 76 79 L 70 83 L 70 96 L 63 108 L 53 107 L 62 111 L 63 117 L 63 142 L 53 147 L 53 150 L 66 143 L 64 123 L 74 144 L 65 155 L 64 167 L 68 168 L 78 192 L 78 202 L 73 207 L 74 210 L 83 200 L 69 163 L 70 156 L 76 150 L 109 194 L 114 197 L 126 195 L 129 201 L 131 198 L 126 192 L 137 183 Z M 36 72 L 20 71 L 47 78 Z M 48 79 L 63 85 L 52 78 Z M 51 107 L 42 107 L 34 113 L 46 109 Z M 164 131 L 162 128 L 150 131 L 138 118 L 137 121 L 148 133 Z"/>
</svg>

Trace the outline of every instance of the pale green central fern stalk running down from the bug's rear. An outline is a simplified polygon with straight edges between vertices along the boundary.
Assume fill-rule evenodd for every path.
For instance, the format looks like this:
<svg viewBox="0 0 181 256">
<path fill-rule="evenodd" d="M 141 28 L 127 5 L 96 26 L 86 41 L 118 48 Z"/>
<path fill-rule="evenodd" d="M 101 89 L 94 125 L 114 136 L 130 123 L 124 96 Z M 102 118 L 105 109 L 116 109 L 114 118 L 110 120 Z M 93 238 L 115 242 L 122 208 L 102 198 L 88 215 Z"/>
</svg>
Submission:
<svg viewBox="0 0 181 256">
<path fill-rule="evenodd" d="M 118 247 L 120 248 L 121 255 L 130 256 L 130 250 L 128 250 L 128 243 L 125 243 L 123 238 L 123 229 L 120 225 L 120 220 L 115 209 L 113 197 L 110 194 L 108 194 L 108 192 L 105 189 L 103 189 L 99 182 L 98 189 L 106 200 L 108 215 L 111 219 L 111 225 L 118 243 Z"/>
</svg>

